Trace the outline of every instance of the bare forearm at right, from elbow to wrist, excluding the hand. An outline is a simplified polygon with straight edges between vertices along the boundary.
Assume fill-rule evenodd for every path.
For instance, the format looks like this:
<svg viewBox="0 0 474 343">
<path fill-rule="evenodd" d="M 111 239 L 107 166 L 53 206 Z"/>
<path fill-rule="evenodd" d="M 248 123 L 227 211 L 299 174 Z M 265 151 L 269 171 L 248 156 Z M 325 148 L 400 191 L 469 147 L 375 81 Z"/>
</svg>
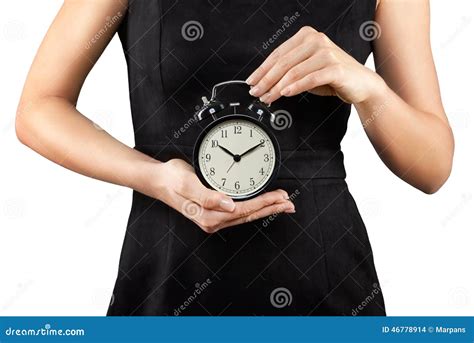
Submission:
<svg viewBox="0 0 474 343">
<path fill-rule="evenodd" d="M 449 124 L 407 104 L 382 79 L 373 93 L 355 107 L 380 158 L 411 185 L 436 192 L 451 173 L 454 138 Z"/>
</svg>

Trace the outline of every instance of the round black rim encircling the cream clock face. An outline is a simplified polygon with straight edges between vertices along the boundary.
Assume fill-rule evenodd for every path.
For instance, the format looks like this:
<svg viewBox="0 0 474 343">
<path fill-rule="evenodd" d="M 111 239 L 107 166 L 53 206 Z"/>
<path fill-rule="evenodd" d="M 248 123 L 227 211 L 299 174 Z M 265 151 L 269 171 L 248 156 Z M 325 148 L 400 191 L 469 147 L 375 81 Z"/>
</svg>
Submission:
<svg viewBox="0 0 474 343">
<path fill-rule="evenodd" d="M 204 175 L 201 172 L 201 168 L 199 168 L 199 148 L 201 147 L 201 143 L 204 140 L 204 137 L 217 125 L 219 125 L 222 122 L 225 121 L 231 121 L 231 120 L 247 120 L 250 121 L 254 124 L 257 124 L 267 135 L 270 137 L 270 141 L 273 144 L 273 148 L 275 150 L 275 167 L 273 168 L 272 175 L 268 178 L 267 182 L 263 184 L 258 190 L 255 192 L 252 192 L 247 195 L 242 195 L 242 196 L 235 196 L 235 195 L 229 195 L 227 193 L 224 193 L 220 191 L 219 189 L 215 189 L 212 185 L 210 185 L 207 180 L 205 179 Z M 234 114 L 227 114 L 225 116 L 219 117 L 216 120 L 213 120 L 211 123 L 206 125 L 206 127 L 201 131 L 199 134 L 195 144 L 194 144 L 194 150 L 193 150 L 193 165 L 194 165 L 194 170 L 196 172 L 196 175 L 198 176 L 199 180 L 207 187 L 212 190 L 215 190 L 217 192 L 220 192 L 222 194 L 225 194 L 229 197 L 231 197 L 233 200 L 239 201 L 239 200 L 249 200 L 252 198 L 255 198 L 256 196 L 260 195 L 263 193 L 276 179 L 278 176 L 278 172 L 280 170 L 280 163 L 281 163 L 281 153 L 280 153 L 280 144 L 278 144 L 278 140 L 275 136 L 275 134 L 261 121 L 258 119 L 249 116 L 247 114 L 240 114 L 240 113 L 234 113 Z"/>
</svg>

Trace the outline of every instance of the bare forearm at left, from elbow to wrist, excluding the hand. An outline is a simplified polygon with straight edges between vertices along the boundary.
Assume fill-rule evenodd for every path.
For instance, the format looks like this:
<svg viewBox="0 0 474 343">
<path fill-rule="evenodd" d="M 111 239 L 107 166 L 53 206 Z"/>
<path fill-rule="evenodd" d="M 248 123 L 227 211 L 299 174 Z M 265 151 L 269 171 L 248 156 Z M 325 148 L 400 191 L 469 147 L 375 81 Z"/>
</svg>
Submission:
<svg viewBox="0 0 474 343">
<path fill-rule="evenodd" d="M 24 100 L 16 132 L 49 160 L 95 179 L 144 191 L 153 158 L 119 142 L 61 97 Z"/>
</svg>

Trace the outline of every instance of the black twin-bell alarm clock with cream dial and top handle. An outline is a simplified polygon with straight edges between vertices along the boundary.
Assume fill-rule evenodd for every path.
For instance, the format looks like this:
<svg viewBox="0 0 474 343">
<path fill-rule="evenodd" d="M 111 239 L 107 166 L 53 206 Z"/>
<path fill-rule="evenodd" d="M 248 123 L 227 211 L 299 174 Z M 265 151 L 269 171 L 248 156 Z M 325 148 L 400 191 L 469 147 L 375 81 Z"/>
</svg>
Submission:
<svg viewBox="0 0 474 343">
<path fill-rule="evenodd" d="M 246 88 L 248 100 L 220 99 L 218 89 L 229 91 L 232 86 Z M 248 91 L 245 81 L 218 83 L 210 100 L 203 97 L 194 117 L 203 124 L 193 153 L 196 174 L 204 185 L 235 200 L 261 194 L 278 175 L 281 162 L 271 129 L 275 115 Z"/>
</svg>

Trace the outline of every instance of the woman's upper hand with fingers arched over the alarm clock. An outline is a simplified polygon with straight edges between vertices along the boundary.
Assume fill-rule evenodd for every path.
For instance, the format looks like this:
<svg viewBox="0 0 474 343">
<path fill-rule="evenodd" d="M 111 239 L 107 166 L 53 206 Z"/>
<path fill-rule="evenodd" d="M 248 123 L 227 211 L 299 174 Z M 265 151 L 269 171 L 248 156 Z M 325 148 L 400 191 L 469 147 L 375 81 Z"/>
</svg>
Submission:
<svg viewBox="0 0 474 343">
<path fill-rule="evenodd" d="M 383 80 L 324 33 L 305 26 L 275 49 L 247 79 L 250 94 L 272 103 L 308 91 L 347 103 L 366 101 Z"/>
</svg>

